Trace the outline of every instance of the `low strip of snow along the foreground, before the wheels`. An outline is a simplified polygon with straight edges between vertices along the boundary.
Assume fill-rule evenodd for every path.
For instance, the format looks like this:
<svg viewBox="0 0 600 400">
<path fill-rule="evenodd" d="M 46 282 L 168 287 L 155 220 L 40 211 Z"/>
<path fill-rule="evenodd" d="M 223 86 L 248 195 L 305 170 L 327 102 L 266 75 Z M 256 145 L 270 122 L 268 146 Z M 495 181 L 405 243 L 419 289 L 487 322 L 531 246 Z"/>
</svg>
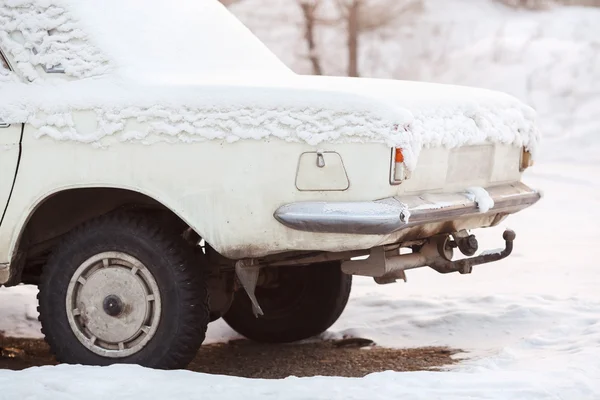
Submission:
<svg viewBox="0 0 600 400">
<path fill-rule="evenodd" d="M 598 395 L 597 382 L 559 372 L 384 372 L 362 379 L 315 377 L 242 379 L 135 366 L 56 366 L 0 375 L 11 399 L 557 399 Z"/>
</svg>

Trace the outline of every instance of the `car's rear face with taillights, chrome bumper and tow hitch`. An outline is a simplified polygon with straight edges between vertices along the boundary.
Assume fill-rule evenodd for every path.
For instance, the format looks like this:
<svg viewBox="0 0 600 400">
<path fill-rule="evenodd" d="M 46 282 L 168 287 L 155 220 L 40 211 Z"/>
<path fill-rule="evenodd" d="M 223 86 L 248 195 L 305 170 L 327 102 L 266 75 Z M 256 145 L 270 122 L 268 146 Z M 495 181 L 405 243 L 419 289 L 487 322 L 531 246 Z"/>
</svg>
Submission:
<svg viewBox="0 0 600 400">
<path fill-rule="evenodd" d="M 531 165 L 525 147 L 490 142 L 423 149 L 416 168 L 410 170 L 403 149 L 392 148 L 388 173 L 395 195 L 367 201 L 296 202 L 280 207 L 275 217 L 294 230 L 384 237 L 380 246 L 363 252 L 369 255 L 366 260 L 343 262 L 349 274 L 386 283 L 405 278 L 407 269 L 424 266 L 442 273 L 469 273 L 474 265 L 511 253 L 515 234 L 506 231 L 504 249 L 472 257 L 478 243 L 470 230 L 495 226 L 540 199 L 538 191 L 521 182 L 522 172 Z M 455 248 L 470 258 L 453 261 Z M 345 259 L 359 253 L 328 257 Z"/>
</svg>

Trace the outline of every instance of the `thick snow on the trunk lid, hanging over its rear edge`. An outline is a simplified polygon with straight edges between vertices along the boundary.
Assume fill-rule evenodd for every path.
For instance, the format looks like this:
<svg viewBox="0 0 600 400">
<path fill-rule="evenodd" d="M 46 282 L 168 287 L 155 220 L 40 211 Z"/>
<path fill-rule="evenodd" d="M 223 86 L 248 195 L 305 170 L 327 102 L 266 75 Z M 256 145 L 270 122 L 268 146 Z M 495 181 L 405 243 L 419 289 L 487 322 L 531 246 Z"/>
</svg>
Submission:
<svg viewBox="0 0 600 400">
<path fill-rule="evenodd" d="M 385 79 L 302 77 L 308 87 L 370 96 L 412 115 L 405 132 L 405 163 L 414 170 L 423 148 L 503 143 L 535 155 L 536 112 L 513 96 L 492 90 Z M 401 140 L 400 140 L 401 142 Z M 402 147 L 402 143 L 398 143 Z"/>
</svg>

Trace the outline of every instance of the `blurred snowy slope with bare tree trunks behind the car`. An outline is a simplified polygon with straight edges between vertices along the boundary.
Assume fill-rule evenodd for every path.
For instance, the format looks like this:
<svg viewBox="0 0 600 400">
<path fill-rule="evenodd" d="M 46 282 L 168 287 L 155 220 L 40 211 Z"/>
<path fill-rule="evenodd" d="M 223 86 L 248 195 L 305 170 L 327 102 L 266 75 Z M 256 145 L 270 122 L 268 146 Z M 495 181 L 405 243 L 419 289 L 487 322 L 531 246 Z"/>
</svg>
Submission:
<svg viewBox="0 0 600 400">
<path fill-rule="evenodd" d="M 536 108 L 546 145 L 571 150 L 546 157 L 600 151 L 598 0 L 223 2 L 295 72 L 506 91 Z"/>
</svg>

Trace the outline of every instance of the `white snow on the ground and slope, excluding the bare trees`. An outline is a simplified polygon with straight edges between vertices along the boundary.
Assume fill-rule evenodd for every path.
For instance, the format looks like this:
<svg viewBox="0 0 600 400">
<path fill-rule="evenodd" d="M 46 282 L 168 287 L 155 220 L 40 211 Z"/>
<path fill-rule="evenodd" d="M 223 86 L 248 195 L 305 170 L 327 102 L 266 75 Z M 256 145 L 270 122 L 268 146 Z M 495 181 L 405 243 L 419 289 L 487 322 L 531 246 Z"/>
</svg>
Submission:
<svg viewBox="0 0 600 400">
<path fill-rule="evenodd" d="M 471 18 L 479 23 L 440 25 L 446 14 L 447 21 Z M 514 229 L 511 257 L 475 267 L 466 276 L 409 271 L 407 284 L 387 286 L 357 279 L 346 312 L 328 333 L 356 334 L 392 347 L 447 345 L 466 350 L 465 360 L 448 372 L 264 381 L 131 366 L 59 366 L 0 371 L 0 398 L 600 398 L 600 270 L 595 253 L 600 243 L 598 21 L 598 10 L 555 10 L 532 17 L 509 15 L 489 5 L 448 7 L 429 15 L 410 46 L 402 42 L 403 62 L 423 66 L 422 76 L 410 78 L 509 91 L 538 108 L 547 139 L 539 162 L 525 177 L 545 197 L 504 226 L 478 235 L 482 248 L 496 248 L 502 228 Z M 436 24 L 445 48 L 423 49 L 425 39 L 419 35 L 426 37 L 425 31 Z M 292 28 L 286 29 L 281 32 L 294 35 Z M 502 32 L 509 34 L 503 37 Z M 274 41 L 277 36 L 263 39 Z M 465 47 L 466 42 L 471 45 Z M 392 46 L 389 40 L 387 45 Z M 411 49 L 416 49 L 414 54 Z M 448 54 L 432 56 L 441 50 Z M 289 59 L 294 54 L 279 55 L 293 64 Z M 402 68 L 403 64 L 370 72 L 385 76 L 396 69 L 408 71 Z M 34 303 L 34 288 L 0 289 L 0 330 L 39 336 Z M 234 336 L 217 322 L 209 327 L 207 342 Z"/>
</svg>

